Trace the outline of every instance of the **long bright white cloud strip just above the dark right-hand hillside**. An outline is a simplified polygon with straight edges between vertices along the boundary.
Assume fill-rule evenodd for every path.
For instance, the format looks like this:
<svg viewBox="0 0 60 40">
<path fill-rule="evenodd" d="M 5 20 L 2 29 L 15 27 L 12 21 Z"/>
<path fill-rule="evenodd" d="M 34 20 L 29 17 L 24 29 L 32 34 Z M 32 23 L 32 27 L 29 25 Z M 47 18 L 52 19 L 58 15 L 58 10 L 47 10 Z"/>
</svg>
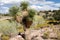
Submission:
<svg viewBox="0 0 60 40">
<path fill-rule="evenodd" d="M 58 10 L 59 8 L 57 8 L 57 7 L 51 7 L 51 6 L 49 6 L 49 5 L 43 5 L 43 6 L 36 6 L 36 5 L 31 5 L 30 6 L 31 8 L 33 8 L 33 9 L 36 9 L 36 10 Z"/>
</svg>

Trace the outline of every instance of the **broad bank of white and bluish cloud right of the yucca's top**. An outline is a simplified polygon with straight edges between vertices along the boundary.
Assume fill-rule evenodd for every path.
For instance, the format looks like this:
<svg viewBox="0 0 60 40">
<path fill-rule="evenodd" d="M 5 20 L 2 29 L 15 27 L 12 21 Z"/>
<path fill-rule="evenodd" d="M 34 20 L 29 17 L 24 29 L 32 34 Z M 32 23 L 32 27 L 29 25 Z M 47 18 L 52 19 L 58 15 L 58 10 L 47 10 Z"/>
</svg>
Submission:
<svg viewBox="0 0 60 40">
<path fill-rule="evenodd" d="M 37 10 L 58 10 L 60 3 L 55 3 L 53 1 L 30 1 L 30 3 L 32 4 L 31 7 Z M 42 5 L 42 6 L 41 6 Z"/>
</svg>

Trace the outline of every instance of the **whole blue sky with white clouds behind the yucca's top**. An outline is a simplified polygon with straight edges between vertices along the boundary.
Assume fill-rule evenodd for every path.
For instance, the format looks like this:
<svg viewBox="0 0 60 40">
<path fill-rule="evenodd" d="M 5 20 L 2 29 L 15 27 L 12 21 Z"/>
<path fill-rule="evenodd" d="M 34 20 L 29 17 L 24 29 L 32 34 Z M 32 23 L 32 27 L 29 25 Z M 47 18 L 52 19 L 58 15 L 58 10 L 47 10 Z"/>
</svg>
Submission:
<svg viewBox="0 0 60 40">
<path fill-rule="evenodd" d="M 7 13 L 13 5 L 19 5 L 21 1 L 28 1 L 31 5 L 28 8 L 36 10 L 58 10 L 60 0 L 0 0 L 0 13 Z"/>
</svg>

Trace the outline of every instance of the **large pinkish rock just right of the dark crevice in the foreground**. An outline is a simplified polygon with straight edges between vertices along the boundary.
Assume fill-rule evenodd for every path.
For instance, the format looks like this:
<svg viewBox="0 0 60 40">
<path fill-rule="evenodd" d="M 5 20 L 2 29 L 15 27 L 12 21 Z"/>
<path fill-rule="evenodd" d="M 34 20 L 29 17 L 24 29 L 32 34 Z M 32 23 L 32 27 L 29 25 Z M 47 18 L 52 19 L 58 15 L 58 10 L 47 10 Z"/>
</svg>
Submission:
<svg viewBox="0 0 60 40">
<path fill-rule="evenodd" d="M 27 30 L 25 32 L 25 37 L 27 40 L 44 40 L 40 35 L 39 30 Z"/>
</svg>

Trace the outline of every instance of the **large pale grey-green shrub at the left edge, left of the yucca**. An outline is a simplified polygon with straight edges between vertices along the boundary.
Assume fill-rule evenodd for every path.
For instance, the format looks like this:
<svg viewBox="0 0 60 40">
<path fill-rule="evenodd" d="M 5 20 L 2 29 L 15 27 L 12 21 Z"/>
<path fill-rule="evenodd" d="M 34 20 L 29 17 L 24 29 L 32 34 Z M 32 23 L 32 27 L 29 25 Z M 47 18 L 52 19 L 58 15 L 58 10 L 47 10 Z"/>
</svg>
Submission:
<svg viewBox="0 0 60 40">
<path fill-rule="evenodd" d="M 18 34 L 16 23 L 9 20 L 0 21 L 0 32 L 4 35 L 14 36 Z"/>
</svg>

